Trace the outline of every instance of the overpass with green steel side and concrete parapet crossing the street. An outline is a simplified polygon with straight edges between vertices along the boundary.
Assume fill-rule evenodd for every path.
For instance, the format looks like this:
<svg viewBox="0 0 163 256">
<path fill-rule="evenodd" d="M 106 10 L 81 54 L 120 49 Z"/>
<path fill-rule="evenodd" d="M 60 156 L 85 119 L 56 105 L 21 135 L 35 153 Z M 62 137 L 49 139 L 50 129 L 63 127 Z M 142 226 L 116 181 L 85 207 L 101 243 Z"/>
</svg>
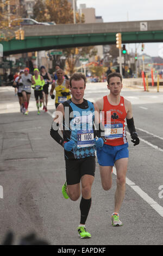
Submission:
<svg viewBox="0 0 163 256">
<path fill-rule="evenodd" d="M 115 44 L 116 33 L 122 33 L 122 44 L 163 42 L 163 20 L 26 26 L 23 29 L 24 40 L 0 41 L 4 56 L 54 48 Z"/>
</svg>

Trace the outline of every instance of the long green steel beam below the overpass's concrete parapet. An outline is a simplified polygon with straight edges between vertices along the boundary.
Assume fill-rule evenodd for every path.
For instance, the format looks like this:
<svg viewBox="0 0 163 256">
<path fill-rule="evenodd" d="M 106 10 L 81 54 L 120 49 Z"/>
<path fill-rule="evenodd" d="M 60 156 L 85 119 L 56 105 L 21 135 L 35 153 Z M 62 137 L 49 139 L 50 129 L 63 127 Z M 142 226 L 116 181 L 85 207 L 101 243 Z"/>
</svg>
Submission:
<svg viewBox="0 0 163 256">
<path fill-rule="evenodd" d="M 122 32 L 122 44 L 135 42 L 163 42 L 163 31 Z M 116 33 L 69 34 L 51 36 L 27 36 L 24 40 L 0 41 L 3 54 L 51 50 L 116 43 Z"/>
</svg>

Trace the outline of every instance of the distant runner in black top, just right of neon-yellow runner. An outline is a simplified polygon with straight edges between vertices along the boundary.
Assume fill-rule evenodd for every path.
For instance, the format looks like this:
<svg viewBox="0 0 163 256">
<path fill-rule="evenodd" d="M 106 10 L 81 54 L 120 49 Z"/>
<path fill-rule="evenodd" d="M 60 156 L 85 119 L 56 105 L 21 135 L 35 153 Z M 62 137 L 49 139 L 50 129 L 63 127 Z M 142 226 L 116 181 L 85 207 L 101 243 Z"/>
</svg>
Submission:
<svg viewBox="0 0 163 256">
<path fill-rule="evenodd" d="M 46 71 L 45 66 L 41 66 L 40 68 L 40 75 L 43 77 L 45 81 L 45 85 L 43 86 L 43 109 L 45 109 L 45 112 L 47 112 L 47 102 L 48 102 L 48 88 L 49 88 L 49 83 L 52 82 L 51 75 Z"/>
</svg>

